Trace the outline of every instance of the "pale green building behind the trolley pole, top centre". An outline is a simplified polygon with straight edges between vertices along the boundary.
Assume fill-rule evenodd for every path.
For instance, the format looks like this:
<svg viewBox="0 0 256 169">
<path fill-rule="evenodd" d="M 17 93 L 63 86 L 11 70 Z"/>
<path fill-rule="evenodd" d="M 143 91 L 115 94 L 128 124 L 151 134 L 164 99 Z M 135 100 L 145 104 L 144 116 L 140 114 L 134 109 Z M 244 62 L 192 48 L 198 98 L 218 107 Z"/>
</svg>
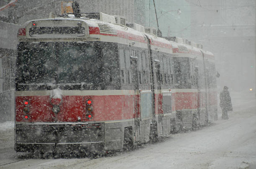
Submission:
<svg viewBox="0 0 256 169">
<path fill-rule="evenodd" d="M 157 29 L 153 0 L 135 0 L 135 20 Z M 163 36 L 190 37 L 190 4 L 186 0 L 155 0 L 159 29 Z"/>
</svg>

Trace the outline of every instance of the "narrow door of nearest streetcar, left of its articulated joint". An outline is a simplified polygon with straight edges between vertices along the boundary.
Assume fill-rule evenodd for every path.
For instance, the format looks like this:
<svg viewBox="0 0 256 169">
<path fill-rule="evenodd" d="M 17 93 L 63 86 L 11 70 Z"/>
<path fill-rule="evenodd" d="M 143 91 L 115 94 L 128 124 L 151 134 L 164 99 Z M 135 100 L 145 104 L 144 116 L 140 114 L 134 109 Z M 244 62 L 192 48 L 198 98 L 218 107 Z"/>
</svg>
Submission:
<svg viewBox="0 0 256 169">
<path fill-rule="evenodd" d="M 140 121 L 139 121 L 139 82 L 138 82 L 138 65 L 137 65 L 137 57 L 131 56 L 131 77 L 132 84 L 134 89 L 134 130 L 135 130 L 135 142 L 139 141 L 139 129 L 140 129 Z"/>
</svg>

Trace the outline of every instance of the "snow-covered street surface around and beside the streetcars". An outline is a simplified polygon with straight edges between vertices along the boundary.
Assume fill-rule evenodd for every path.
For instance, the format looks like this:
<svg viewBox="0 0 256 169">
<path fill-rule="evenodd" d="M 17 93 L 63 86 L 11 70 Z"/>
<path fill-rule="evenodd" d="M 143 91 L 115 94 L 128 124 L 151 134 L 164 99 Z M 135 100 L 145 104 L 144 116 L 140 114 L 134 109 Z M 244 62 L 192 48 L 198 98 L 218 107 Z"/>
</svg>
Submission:
<svg viewBox="0 0 256 169">
<path fill-rule="evenodd" d="M 230 119 L 208 127 L 173 134 L 158 144 L 98 159 L 24 159 L 13 150 L 13 123 L 0 125 L 2 169 L 255 169 L 256 100 L 231 94 Z M 241 99 L 242 98 L 242 99 Z"/>
</svg>

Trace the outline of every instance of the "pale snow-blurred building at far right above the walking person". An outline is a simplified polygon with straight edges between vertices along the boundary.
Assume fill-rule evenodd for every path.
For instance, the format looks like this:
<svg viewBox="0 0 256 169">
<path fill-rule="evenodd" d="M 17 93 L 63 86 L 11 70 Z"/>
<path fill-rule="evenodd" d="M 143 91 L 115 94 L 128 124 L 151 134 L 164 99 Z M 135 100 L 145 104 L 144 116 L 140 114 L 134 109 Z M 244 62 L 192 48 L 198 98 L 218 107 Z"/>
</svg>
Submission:
<svg viewBox="0 0 256 169">
<path fill-rule="evenodd" d="M 215 55 L 218 90 L 255 87 L 256 0 L 188 0 L 191 40 Z"/>
</svg>

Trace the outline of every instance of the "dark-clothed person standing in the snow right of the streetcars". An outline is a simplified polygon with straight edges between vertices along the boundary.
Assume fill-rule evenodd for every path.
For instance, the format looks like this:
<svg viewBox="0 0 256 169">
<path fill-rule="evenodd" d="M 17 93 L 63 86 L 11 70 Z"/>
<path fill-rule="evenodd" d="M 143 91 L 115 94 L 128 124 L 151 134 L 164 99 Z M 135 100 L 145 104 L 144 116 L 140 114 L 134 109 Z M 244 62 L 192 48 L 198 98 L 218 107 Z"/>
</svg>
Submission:
<svg viewBox="0 0 256 169">
<path fill-rule="evenodd" d="M 231 97 L 228 92 L 228 87 L 224 86 L 223 91 L 220 92 L 220 107 L 222 109 L 221 119 L 228 119 L 228 111 L 233 111 Z"/>
</svg>

